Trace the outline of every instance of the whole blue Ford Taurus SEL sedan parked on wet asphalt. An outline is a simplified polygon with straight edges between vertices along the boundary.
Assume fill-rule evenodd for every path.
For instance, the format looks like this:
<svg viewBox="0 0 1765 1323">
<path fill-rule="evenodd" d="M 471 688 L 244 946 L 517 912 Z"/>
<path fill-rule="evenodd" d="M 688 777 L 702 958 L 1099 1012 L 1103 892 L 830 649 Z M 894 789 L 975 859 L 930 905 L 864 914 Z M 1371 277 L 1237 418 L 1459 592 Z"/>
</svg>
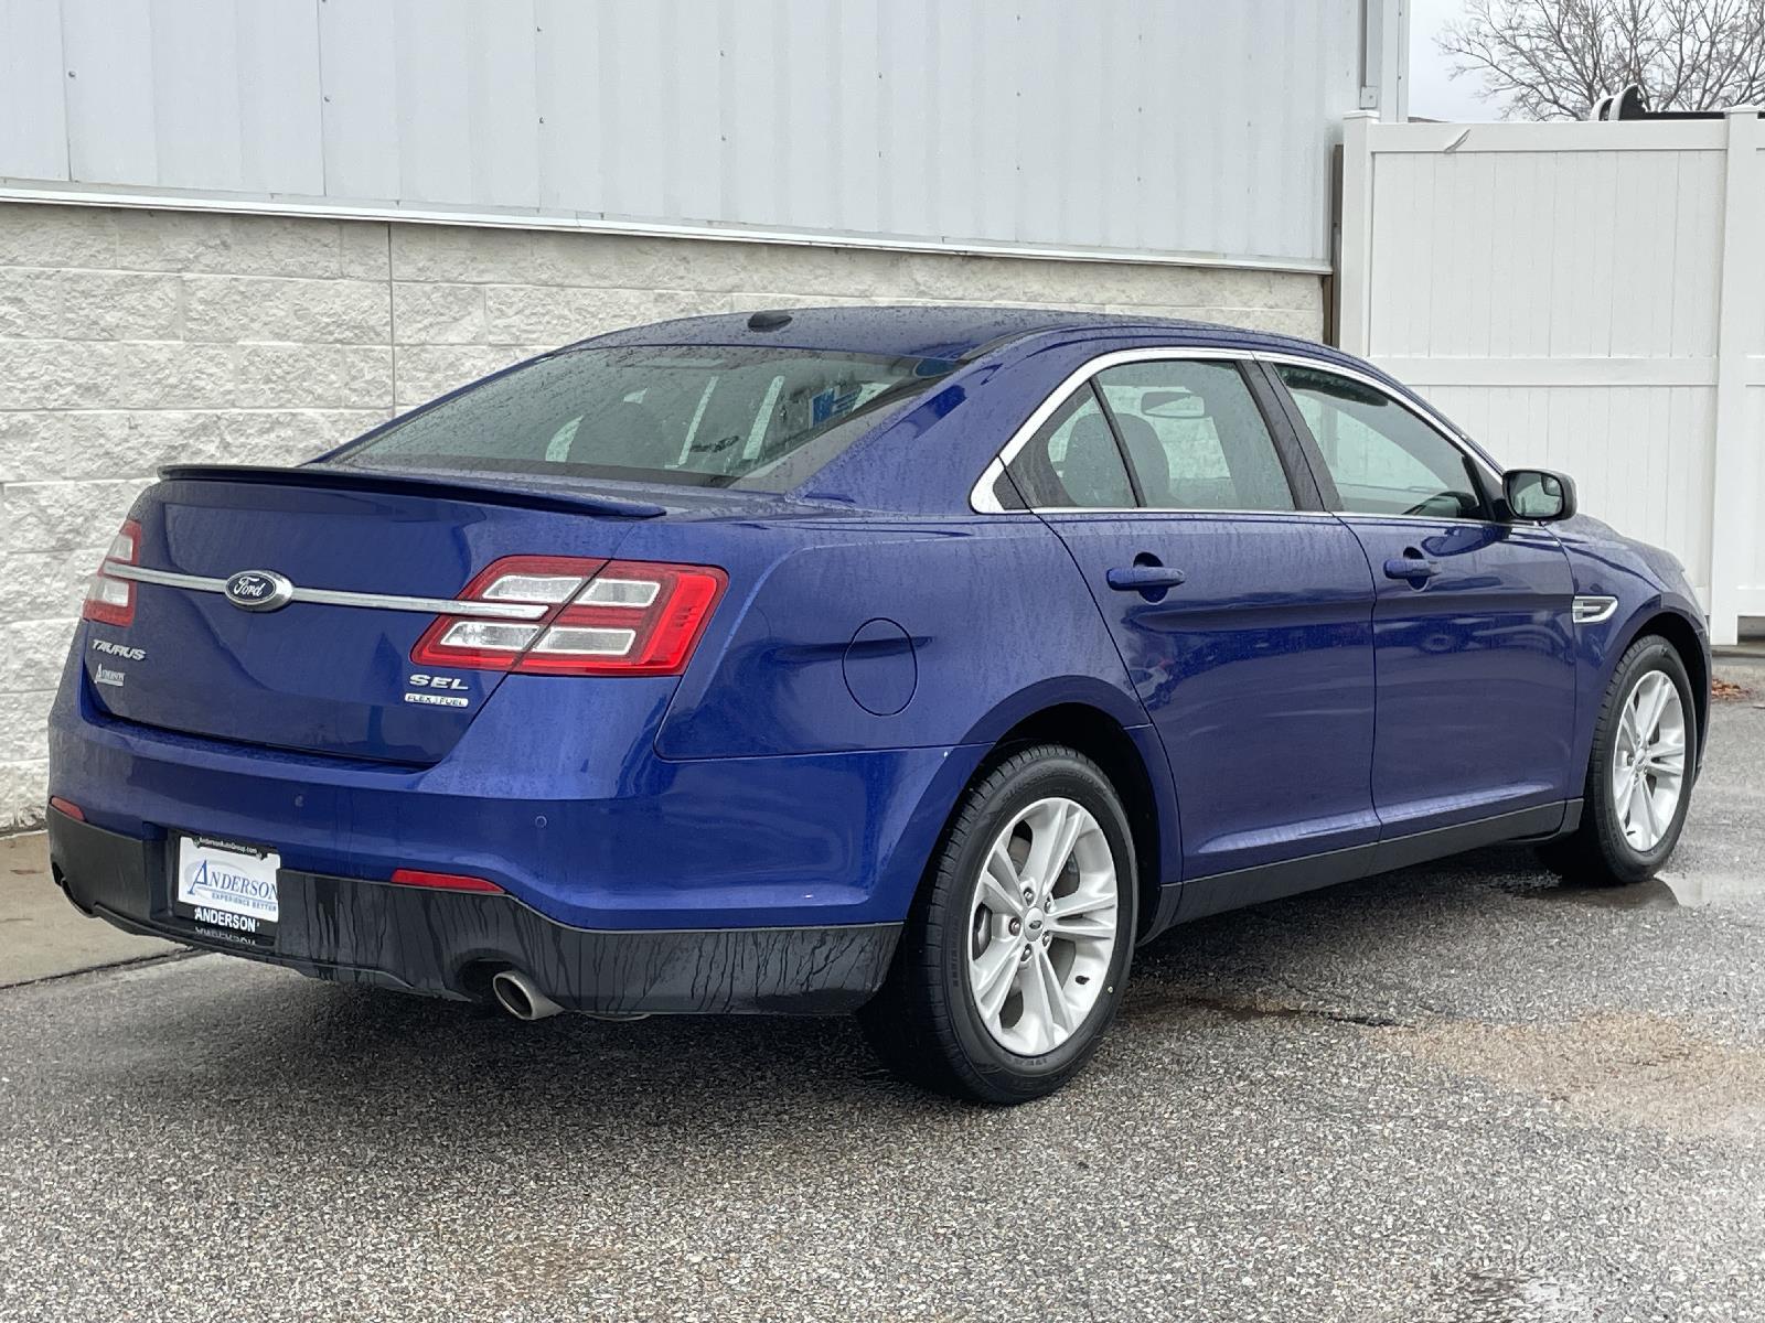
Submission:
<svg viewBox="0 0 1765 1323">
<path fill-rule="evenodd" d="M 1172 924 L 1491 841 L 1649 877 L 1709 676 L 1671 556 L 1333 349 L 697 318 L 166 469 L 51 852 L 132 931 L 522 1020 L 856 1011 L 1018 1102 Z"/>
</svg>

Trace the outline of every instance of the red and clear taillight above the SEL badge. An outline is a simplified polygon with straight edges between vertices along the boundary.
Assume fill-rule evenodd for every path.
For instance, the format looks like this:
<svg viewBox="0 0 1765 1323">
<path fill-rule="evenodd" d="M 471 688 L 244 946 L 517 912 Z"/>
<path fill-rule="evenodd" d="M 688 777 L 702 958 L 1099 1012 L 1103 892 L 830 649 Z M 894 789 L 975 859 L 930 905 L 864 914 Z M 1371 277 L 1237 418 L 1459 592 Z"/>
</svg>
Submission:
<svg viewBox="0 0 1765 1323">
<path fill-rule="evenodd" d="M 459 600 L 544 612 L 521 621 L 438 616 L 411 662 L 540 676 L 678 676 L 727 582 L 710 564 L 507 556 Z"/>
</svg>

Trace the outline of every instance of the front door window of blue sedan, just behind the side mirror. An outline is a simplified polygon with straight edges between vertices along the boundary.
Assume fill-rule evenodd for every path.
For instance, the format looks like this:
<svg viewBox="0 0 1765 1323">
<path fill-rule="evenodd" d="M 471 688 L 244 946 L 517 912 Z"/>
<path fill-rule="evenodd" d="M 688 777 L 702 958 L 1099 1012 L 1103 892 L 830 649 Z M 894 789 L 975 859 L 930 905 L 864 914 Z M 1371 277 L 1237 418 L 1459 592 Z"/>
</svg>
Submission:
<svg viewBox="0 0 1765 1323">
<path fill-rule="evenodd" d="M 1465 452 L 1382 390 L 1313 367 L 1274 370 L 1311 429 L 1345 512 L 1488 517 Z"/>
</svg>

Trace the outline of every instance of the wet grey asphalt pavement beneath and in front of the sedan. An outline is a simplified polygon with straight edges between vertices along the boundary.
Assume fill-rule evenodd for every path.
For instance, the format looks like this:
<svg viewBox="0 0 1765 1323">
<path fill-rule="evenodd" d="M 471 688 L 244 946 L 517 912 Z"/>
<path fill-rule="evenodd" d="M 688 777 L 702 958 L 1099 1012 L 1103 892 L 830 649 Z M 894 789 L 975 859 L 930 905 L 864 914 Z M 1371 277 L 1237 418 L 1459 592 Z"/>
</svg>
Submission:
<svg viewBox="0 0 1765 1323">
<path fill-rule="evenodd" d="M 1730 700 L 1668 878 L 1502 848 L 1177 930 L 1017 1110 L 838 1020 L 19 983 L 0 1319 L 1760 1319 L 1761 857 Z"/>
</svg>

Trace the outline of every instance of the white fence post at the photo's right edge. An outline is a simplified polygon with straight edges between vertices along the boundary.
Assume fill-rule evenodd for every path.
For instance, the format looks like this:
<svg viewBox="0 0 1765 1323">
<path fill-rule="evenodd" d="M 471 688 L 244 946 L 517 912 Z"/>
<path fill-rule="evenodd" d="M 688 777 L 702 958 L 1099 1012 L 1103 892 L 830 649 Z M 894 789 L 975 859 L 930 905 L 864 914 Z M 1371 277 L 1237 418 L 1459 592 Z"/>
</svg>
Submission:
<svg viewBox="0 0 1765 1323">
<path fill-rule="evenodd" d="M 1740 632 L 1740 589 L 1753 572 L 1758 527 L 1756 441 L 1747 436 L 1747 351 L 1760 316 L 1756 259 L 1765 235 L 1765 169 L 1758 106 L 1728 111 L 1726 192 L 1723 196 L 1721 318 L 1716 330 L 1716 482 L 1710 492 L 1710 640 L 1733 644 Z"/>
</svg>

